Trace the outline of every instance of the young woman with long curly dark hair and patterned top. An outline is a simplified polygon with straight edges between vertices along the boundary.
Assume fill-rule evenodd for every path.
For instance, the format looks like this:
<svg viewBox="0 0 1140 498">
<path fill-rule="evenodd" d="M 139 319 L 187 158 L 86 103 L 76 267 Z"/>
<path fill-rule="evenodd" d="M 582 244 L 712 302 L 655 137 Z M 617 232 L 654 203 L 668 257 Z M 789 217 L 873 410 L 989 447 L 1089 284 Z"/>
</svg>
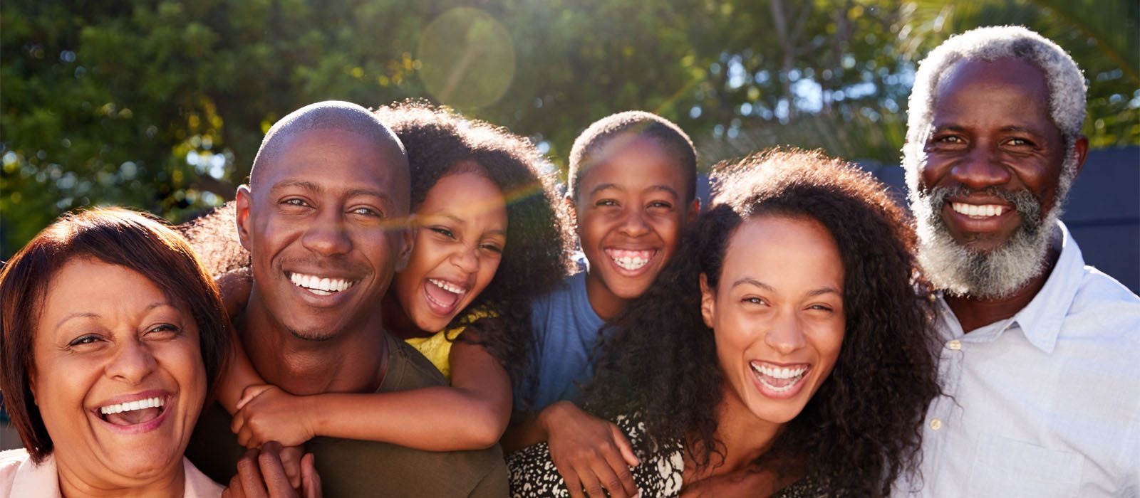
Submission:
<svg viewBox="0 0 1140 498">
<path fill-rule="evenodd" d="M 629 435 L 642 496 L 886 496 L 938 392 L 903 213 L 817 152 L 754 156 L 714 182 L 712 208 L 612 323 L 586 408 Z M 507 464 L 516 497 L 583 495 L 544 445 Z"/>
</svg>

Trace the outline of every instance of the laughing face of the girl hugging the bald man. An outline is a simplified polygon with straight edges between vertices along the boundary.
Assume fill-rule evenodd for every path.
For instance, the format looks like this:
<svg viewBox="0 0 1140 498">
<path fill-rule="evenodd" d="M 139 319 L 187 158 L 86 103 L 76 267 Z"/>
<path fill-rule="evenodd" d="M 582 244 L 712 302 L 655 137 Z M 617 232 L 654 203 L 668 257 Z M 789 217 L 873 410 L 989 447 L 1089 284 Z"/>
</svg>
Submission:
<svg viewBox="0 0 1140 498">
<path fill-rule="evenodd" d="M 400 307 L 424 332 L 437 332 L 495 276 L 506 247 L 506 201 L 486 176 L 441 177 L 416 209 L 415 249 L 396 274 Z"/>
</svg>

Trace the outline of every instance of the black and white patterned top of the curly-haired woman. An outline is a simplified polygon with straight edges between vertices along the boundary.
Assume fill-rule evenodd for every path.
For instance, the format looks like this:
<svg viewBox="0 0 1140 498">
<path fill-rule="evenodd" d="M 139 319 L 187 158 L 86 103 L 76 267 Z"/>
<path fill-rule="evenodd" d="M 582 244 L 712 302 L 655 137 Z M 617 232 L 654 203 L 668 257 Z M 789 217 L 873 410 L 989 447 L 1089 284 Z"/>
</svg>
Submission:
<svg viewBox="0 0 1140 498">
<path fill-rule="evenodd" d="M 629 438 L 634 448 L 648 438 L 645 423 L 637 417 L 619 416 L 613 421 Z M 636 451 L 636 449 L 635 449 Z M 667 441 L 658 446 L 652 456 L 636 451 L 642 464 L 633 468 L 634 483 L 643 497 L 676 497 L 681 493 L 682 475 L 685 471 L 684 446 L 681 441 Z M 511 496 L 514 498 L 569 497 L 570 491 L 562 481 L 549 447 L 538 443 L 522 449 L 506 459 L 511 478 Z M 814 480 L 801 479 L 775 493 L 773 498 L 816 498 L 824 492 Z"/>
</svg>

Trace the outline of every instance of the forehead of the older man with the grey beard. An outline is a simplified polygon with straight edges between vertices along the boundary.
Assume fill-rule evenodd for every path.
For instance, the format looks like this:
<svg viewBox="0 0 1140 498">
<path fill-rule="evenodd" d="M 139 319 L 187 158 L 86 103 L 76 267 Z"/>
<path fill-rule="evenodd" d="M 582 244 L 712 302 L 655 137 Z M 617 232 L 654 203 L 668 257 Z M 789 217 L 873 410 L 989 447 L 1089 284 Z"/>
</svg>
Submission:
<svg viewBox="0 0 1140 498">
<path fill-rule="evenodd" d="M 1004 118 L 1044 119 L 1052 124 L 1044 73 L 1018 59 L 966 59 L 954 64 L 938 82 L 935 102 L 936 122 L 1000 114 Z M 1005 111 L 1010 108 L 1019 111 Z"/>
</svg>

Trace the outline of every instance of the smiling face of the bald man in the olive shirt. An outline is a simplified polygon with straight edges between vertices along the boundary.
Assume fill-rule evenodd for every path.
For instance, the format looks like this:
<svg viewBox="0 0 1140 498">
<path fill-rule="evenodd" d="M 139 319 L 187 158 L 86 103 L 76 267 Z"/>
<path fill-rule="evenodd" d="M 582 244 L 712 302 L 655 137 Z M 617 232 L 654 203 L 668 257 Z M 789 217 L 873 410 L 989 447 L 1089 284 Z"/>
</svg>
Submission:
<svg viewBox="0 0 1140 498">
<path fill-rule="evenodd" d="M 410 247 L 407 163 L 393 143 L 340 130 L 298 132 L 237 196 L 253 262 L 250 307 L 304 340 L 334 339 L 375 306 Z"/>
</svg>

